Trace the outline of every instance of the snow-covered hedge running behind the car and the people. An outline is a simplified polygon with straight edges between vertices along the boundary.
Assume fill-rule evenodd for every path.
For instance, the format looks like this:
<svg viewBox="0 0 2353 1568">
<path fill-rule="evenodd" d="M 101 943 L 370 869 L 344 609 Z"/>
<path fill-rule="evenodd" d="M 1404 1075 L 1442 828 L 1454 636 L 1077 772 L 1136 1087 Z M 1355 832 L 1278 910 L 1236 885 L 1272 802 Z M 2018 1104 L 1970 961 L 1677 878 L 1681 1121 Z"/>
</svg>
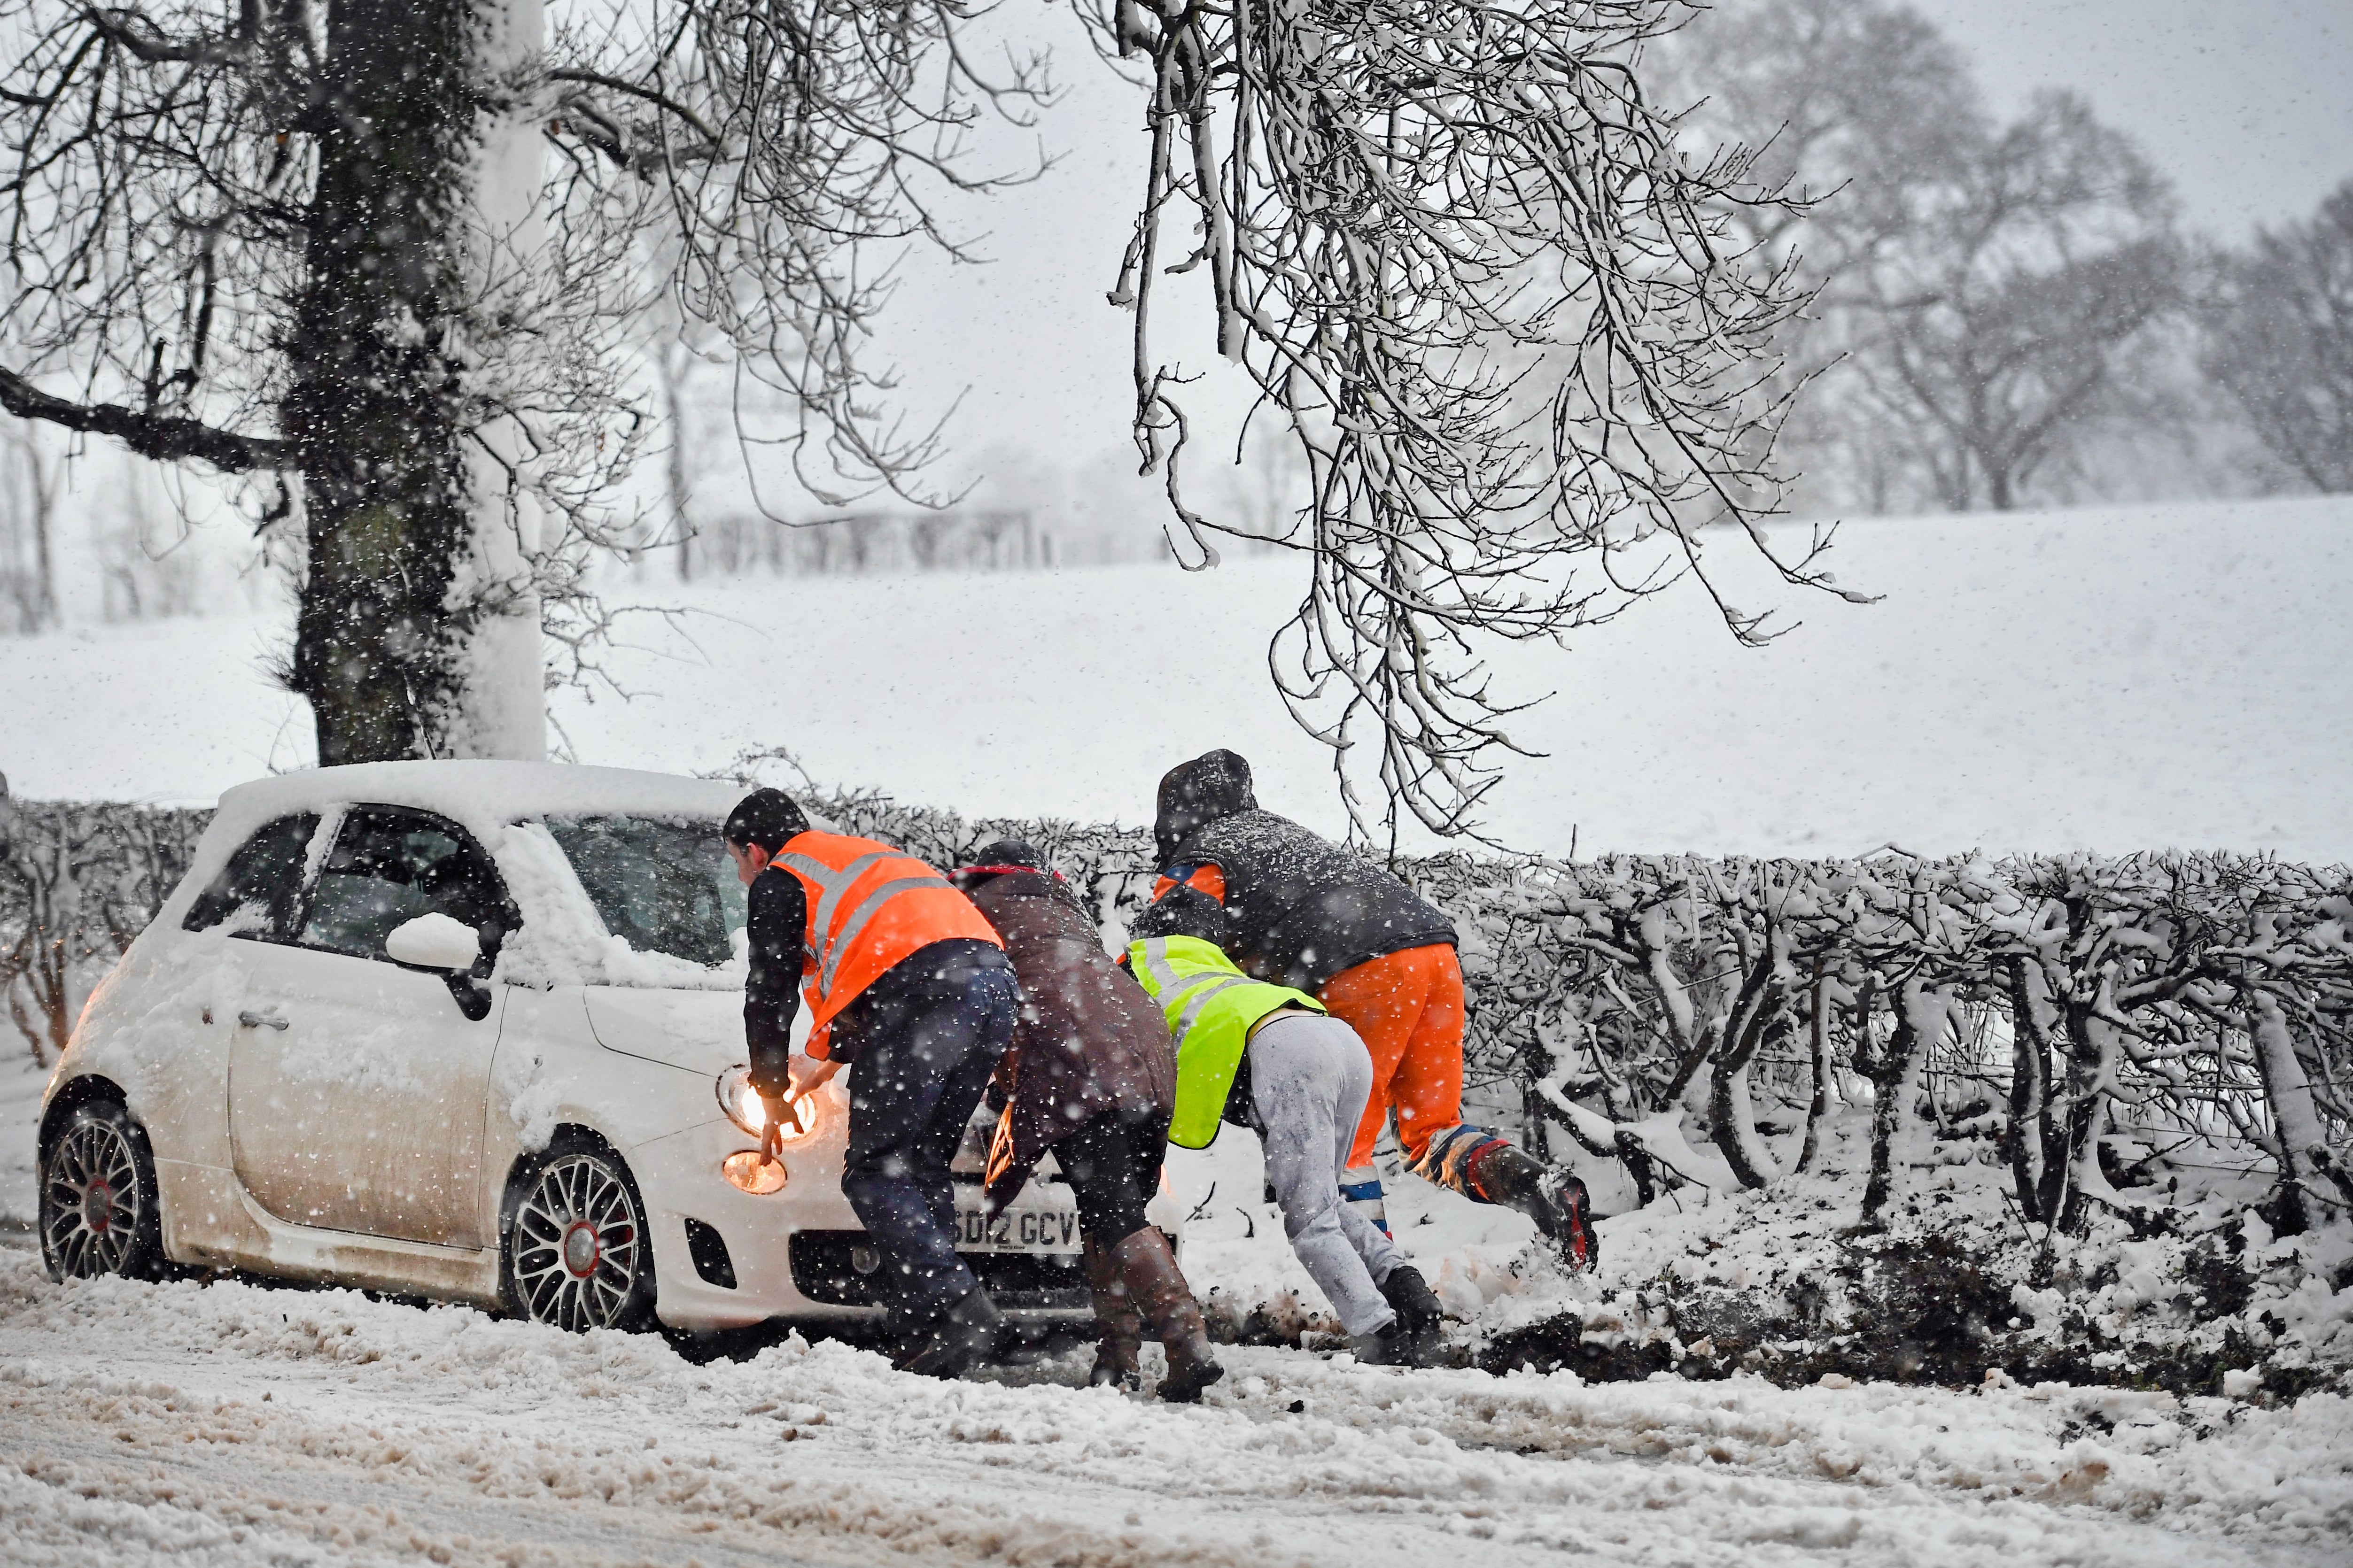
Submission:
<svg viewBox="0 0 2353 1568">
<path fill-rule="evenodd" d="M 842 830 L 955 865 L 1038 844 L 1118 938 L 1144 830 L 965 820 L 878 795 Z M 7 804 L 0 802 L 0 811 Z M 0 816 L 0 980 L 35 1051 L 169 891 L 195 811 Z M 1400 867 L 1471 980 L 1471 1093 L 1635 1197 L 1809 1168 L 1873 1107 L 1864 1220 L 1918 1173 L 2007 1164 L 2019 1218 L 2080 1229 L 2217 1185 L 2301 1229 L 2353 1204 L 2353 872 L 2261 856 L 1746 860 L 1445 856 Z M 2249 1187 L 2252 1185 L 2252 1187 Z"/>
</svg>

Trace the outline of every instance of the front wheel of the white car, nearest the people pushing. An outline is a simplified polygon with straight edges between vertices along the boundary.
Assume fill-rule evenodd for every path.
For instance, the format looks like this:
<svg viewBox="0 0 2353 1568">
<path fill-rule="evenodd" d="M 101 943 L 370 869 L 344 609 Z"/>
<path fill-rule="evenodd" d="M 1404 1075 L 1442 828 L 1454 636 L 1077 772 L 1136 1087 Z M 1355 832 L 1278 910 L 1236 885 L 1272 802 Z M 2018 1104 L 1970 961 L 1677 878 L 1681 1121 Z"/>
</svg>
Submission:
<svg viewBox="0 0 2353 1568">
<path fill-rule="evenodd" d="M 555 1143 L 511 1190 L 501 1267 L 515 1316 L 567 1333 L 642 1328 L 654 1246 L 628 1166 L 586 1140 Z"/>
</svg>

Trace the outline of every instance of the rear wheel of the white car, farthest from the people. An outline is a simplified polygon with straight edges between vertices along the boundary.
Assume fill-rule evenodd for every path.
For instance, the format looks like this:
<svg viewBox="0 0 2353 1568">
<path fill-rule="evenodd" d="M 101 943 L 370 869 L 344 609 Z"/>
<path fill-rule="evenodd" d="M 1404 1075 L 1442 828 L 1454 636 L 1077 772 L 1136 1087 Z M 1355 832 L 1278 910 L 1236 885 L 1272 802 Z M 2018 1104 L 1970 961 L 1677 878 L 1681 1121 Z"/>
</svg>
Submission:
<svg viewBox="0 0 2353 1568">
<path fill-rule="evenodd" d="M 40 1150 L 40 1260 L 49 1279 L 165 1269 L 155 1159 L 115 1100 L 75 1105 Z"/>
</svg>

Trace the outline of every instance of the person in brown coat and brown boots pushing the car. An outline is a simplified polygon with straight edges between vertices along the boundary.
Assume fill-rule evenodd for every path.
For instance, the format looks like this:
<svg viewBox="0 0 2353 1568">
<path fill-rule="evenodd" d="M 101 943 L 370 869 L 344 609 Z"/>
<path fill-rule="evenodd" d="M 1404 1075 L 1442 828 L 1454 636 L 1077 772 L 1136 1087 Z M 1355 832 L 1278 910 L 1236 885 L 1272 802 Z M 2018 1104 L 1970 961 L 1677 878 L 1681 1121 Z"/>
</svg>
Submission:
<svg viewBox="0 0 2353 1568">
<path fill-rule="evenodd" d="M 1167 1349 L 1160 1396 L 1195 1401 L 1226 1368 L 1167 1234 L 1144 1218 L 1176 1112 L 1167 1018 L 1104 952 L 1085 905 L 1028 844 L 1000 839 L 953 882 L 1005 938 L 1024 997 L 1014 1044 L 998 1060 L 1005 1114 L 988 1152 L 986 1206 L 1012 1204 L 1052 1152 L 1078 1199 L 1104 1333 L 1089 1382 L 1139 1385 L 1148 1321 Z"/>
</svg>

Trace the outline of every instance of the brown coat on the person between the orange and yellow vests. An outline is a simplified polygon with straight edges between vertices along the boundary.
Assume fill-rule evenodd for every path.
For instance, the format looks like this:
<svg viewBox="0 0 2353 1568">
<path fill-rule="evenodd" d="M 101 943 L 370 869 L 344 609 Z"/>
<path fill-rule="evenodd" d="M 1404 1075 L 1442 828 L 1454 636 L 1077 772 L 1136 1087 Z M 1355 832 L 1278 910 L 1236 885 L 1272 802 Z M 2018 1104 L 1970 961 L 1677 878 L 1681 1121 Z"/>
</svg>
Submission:
<svg viewBox="0 0 2353 1568">
<path fill-rule="evenodd" d="M 1038 1157 L 1094 1117 L 1165 1126 L 1176 1110 L 1176 1048 L 1167 1018 L 1052 875 L 988 877 L 972 903 L 1005 938 L 1021 980 L 1021 1023 L 995 1079 L 1007 1107 L 988 1159 L 988 1204 L 1002 1208 Z"/>
</svg>

